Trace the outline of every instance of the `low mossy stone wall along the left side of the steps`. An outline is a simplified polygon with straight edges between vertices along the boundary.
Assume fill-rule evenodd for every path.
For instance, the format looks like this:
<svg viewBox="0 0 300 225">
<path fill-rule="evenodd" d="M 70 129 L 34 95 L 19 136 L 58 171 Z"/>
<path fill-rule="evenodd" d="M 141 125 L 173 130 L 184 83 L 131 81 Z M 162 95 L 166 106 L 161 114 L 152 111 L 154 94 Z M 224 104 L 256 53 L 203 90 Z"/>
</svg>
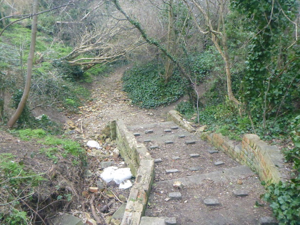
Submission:
<svg viewBox="0 0 300 225">
<path fill-rule="evenodd" d="M 121 225 L 139 225 L 146 209 L 154 178 L 154 160 L 122 121 L 112 121 L 102 133 L 116 140 L 120 154 L 136 181 L 131 188 Z"/>
</svg>

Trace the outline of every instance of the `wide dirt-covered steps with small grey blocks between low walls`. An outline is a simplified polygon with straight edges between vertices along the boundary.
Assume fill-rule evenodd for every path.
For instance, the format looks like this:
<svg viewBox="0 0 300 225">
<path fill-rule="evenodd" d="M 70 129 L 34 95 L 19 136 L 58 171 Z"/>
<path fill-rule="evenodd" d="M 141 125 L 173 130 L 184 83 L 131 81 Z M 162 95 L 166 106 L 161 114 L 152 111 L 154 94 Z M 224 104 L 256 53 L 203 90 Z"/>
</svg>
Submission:
<svg viewBox="0 0 300 225">
<path fill-rule="evenodd" d="M 155 161 L 149 206 L 140 225 L 167 224 L 162 217 L 175 217 L 177 225 L 252 225 L 270 215 L 254 207 L 254 199 L 260 201 L 264 189 L 249 167 L 217 151 L 197 134 L 178 126 L 171 129 L 176 126 L 164 122 L 128 127 L 139 133 L 136 139 L 151 157 L 160 159 Z M 243 184 L 237 184 L 238 180 Z M 184 187 L 173 187 L 176 181 Z"/>
</svg>

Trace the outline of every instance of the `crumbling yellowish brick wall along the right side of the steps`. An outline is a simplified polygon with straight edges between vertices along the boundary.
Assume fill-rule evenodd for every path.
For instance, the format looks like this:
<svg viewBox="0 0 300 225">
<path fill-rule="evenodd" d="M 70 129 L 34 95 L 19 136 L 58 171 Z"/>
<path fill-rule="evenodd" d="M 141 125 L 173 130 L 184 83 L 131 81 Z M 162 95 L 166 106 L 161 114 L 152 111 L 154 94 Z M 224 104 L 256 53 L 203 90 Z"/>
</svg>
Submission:
<svg viewBox="0 0 300 225">
<path fill-rule="evenodd" d="M 248 165 L 256 171 L 260 180 L 266 183 L 278 183 L 283 180 L 281 173 L 284 159 L 276 145 L 268 145 L 255 134 L 245 134 L 242 144 L 235 143 L 219 133 L 210 131 L 201 134 L 201 138 L 231 156 L 240 164 Z"/>
</svg>

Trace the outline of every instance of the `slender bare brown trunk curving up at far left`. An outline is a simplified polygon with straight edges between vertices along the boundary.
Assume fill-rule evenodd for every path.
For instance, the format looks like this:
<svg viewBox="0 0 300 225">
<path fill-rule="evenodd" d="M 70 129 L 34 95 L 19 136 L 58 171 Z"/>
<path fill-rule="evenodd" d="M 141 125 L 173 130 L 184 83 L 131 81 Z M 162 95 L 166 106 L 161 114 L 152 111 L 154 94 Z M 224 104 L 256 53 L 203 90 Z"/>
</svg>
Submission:
<svg viewBox="0 0 300 225">
<path fill-rule="evenodd" d="M 38 5 L 39 0 L 34 0 L 33 2 L 33 14 L 36 14 L 38 12 Z M 18 105 L 18 108 L 12 118 L 8 121 L 7 126 L 13 127 L 17 120 L 20 118 L 20 115 L 26 105 L 27 99 L 29 97 L 30 93 L 30 86 L 31 86 L 31 75 L 32 75 L 32 64 L 33 64 L 33 58 L 35 53 L 35 47 L 36 47 L 36 38 L 37 38 L 37 27 L 38 27 L 38 16 L 33 16 L 32 20 L 32 28 L 31 28 L 31 43 L 30 43 L 30 50 L 29 50 L 29 56 L 27 60 L 27 77 L 26 77 L 26 84 L 24 88 L 24 92 L 22 95 L 22 98 L 20 100 L 20 103 Z"/>
</svg>

